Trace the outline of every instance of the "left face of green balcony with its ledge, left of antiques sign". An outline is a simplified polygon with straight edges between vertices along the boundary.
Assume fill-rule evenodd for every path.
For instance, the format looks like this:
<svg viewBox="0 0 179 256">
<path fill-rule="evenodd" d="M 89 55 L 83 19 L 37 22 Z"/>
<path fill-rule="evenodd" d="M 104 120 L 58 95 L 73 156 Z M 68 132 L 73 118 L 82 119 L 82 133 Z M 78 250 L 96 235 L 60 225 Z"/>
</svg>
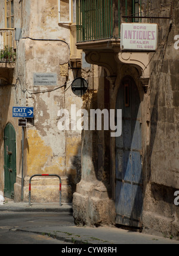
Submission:
<svg viewBox="0 0 179 256">
<path fill-rule="evenodd" d="M 120 46 L 119 0 L 77 0 L 76 4 L 78 49 Z"/>
</svg>

